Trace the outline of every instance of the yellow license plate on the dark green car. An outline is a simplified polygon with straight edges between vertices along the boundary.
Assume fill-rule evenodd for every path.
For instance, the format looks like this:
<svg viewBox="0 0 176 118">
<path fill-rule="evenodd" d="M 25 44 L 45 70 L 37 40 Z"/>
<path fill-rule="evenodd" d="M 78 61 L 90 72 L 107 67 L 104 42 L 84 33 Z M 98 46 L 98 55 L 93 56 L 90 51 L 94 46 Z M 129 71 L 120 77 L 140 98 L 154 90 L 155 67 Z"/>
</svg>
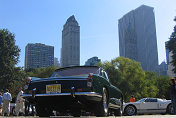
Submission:
<svg viewBox="0 0 176 118">
<path fill-rule="evenodd" d="M 61 84 L 46 85 L 46 93 L 61 93 Z"/>
</svg>

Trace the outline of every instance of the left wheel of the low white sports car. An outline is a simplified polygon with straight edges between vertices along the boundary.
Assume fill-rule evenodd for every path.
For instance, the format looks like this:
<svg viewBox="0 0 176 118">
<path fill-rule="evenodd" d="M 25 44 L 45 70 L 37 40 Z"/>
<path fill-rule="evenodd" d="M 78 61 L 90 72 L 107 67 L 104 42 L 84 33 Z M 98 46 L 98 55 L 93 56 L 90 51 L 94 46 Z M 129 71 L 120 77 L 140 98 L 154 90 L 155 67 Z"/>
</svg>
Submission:
<svg viewBox="0 0 176 118">
<path fill-rule="evenodd" d="M 133 105 L 129 105 L 125 108 L 125 114 L 128 116 L 136 115 L 136 113 L 137 113 L 137 110 Z"/>
</svg>

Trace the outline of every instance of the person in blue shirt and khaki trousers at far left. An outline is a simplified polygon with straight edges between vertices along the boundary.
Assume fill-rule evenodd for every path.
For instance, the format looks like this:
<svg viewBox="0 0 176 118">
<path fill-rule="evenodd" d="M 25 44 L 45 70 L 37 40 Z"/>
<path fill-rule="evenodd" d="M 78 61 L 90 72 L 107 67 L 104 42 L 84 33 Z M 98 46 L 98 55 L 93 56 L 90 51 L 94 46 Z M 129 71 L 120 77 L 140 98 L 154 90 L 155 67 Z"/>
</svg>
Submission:
<svg viewBox="0 0 176 118">
<path fill-rule="evenodd" d="M 9 93 L 9 90 L 6 89 L 6 92 L 2 96 L 3 106 L 2 106 L 2 115 L 4 116 L 7 114 L 7 116 L 10 115 L 10 102 L 12 101 L 12 96 Z"/>
</svg>

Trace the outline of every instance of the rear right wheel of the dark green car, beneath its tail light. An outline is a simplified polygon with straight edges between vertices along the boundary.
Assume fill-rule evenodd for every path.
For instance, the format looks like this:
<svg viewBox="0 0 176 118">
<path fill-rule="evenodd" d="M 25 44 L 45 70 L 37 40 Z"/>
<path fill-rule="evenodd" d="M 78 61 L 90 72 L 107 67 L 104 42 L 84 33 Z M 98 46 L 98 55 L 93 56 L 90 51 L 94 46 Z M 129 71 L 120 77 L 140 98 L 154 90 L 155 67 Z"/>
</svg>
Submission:
<svg viewBox="0 0 176 118">
<path fill-rule="evenodd" d="M 102 100 L 97 105 L 96 116 L 108 116 L 108 92 L 103 88 Z"/>
</svg>

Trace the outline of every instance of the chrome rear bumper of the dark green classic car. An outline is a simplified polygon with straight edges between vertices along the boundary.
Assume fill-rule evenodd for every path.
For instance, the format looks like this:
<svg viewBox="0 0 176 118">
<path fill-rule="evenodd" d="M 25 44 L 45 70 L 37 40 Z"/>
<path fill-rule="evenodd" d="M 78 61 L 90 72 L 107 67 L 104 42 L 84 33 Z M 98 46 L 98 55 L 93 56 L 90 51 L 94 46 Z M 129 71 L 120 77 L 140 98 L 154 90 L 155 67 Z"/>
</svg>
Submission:
<svg viewBox="0 0 176 118">
<path fill-rule="evenodd" d="M 35 94 L 35 96 L 67 96 L 67 95 L 71 96 L 71 93 Z M 82 95 L 102 98 L 100 94 L 95 92 L 75 92 L 75 96 L 82 96 Z M 23 94 L 22 97 L 32 97 L 32 94 Z"/>
</svg>

